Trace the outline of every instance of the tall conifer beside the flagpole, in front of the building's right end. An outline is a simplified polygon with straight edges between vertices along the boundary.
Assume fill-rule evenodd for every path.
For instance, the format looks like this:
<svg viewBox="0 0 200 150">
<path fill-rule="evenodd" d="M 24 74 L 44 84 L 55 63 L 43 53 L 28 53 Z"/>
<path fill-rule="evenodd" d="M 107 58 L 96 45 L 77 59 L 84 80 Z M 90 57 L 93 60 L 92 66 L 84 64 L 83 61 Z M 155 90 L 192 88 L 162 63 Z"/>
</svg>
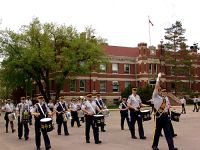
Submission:
<svg viewBox="0 0 200 150">
<path fill-rule="evenodd" d="M 177 51 L 180 50 L 181 46 L 185 44 L 186 38 L 184 37 L 185 29 L 182 27 L 180 21 L 176 21 L 171 27 L 165 28 L 165 44 L 166 50 L 170 51 L 170 55 L 165 57 L 166 62 L 170 62 L 173 66 L 174 72 L 174 83 L 175 83 L 175 95 L 176 95 L 176 83 L 177 83 Z M 172 54 L 173 52 L 173 54 Z M 169 53 L 166 53 L 169 54 Z M 167 61 L 168 60 L 168 61 Z"/>
</svg>

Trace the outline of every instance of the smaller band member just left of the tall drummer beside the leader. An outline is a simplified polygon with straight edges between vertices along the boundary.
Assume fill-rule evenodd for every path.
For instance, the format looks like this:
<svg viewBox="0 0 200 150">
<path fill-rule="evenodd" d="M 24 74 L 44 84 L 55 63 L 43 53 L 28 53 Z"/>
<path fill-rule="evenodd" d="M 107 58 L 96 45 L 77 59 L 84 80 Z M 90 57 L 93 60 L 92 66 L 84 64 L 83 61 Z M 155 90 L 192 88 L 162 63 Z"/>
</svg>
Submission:
<svg viewBox="0 0 200 150">
<path fill-rule="evenodd" d="M 122 102 L 119 104 L 120 115 L 121 115 L 121 130 L 124 130 L 124 120 L 126 119 L 128 127 L 130 125 L 128 117 L 128 106 L 126 98 L 122 98 Z M 129 127 L 130 129 L 130 127 Z"/>
</svg>

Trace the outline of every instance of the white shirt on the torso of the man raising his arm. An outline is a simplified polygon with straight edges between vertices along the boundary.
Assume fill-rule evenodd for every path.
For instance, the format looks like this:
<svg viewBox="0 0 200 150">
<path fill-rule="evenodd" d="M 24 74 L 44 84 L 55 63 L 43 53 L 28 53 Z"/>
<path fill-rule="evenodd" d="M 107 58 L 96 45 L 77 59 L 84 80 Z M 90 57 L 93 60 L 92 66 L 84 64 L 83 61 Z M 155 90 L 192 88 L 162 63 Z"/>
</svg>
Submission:
<svg viewBox="0 0 200 150">
<path fill-rule="evenodd" d="M 166 99 L 166 106 L 165 106 L 164 112 L 168 112 L 168 110 L 170 108 L 170 103 L 169 103 L 168 97 L 162 97 L 158 94 L 158 92 L 154 91 L 152 99 L 153 99 L 154 108 L 156 110 L 158 110 L 160 108 L 160 106 L 162 105 L 163 99 Z"/>
</svg>

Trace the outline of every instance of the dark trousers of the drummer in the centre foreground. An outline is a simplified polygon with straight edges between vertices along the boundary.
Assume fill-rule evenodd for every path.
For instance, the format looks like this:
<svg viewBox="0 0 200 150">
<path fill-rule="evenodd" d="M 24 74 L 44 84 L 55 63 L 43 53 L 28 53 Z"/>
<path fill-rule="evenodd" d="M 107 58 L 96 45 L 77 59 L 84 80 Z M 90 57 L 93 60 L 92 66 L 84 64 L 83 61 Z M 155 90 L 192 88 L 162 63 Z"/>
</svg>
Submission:
<svg viewBox="0 0 200 150">
<path fill-rule="evenodd" d="M 90 141 L 90 127 L 92 126 L 94 141 L 97 143 L 99 141 L 99 129 L 95 125 L 94 116 L 85 115 L 85 124 L 86 141 Z"/>
</svg>

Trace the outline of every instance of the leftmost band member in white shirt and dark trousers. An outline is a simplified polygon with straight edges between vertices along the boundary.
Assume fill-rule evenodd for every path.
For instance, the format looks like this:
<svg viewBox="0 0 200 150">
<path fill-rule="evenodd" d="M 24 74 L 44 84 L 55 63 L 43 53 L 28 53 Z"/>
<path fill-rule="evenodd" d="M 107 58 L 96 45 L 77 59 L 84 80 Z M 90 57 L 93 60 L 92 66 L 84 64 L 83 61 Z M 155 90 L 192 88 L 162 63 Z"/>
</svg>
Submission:
<svg viewBox="0 0 200 150">
<path fill-rule="evenodd" d="M 10 122 L 10 127 L 11 127 L 11 130 L 12 130 L 12 133 L 15 132 L 14 123 L 13 123 L 13 121 L 10 121 L 9 118 L 8 118 L 8 115 L 13 113 L 14 110 L 15 110 L 15 106 L 11 102 L 11 99 L 7 99 L 5 105 L 2 107 L 2 111 L 5 112 L 4 119 L 6 121 L 6 133 L 8 133 L 8 124 L 9 124 L 9 122 Z"/>
</svg>

